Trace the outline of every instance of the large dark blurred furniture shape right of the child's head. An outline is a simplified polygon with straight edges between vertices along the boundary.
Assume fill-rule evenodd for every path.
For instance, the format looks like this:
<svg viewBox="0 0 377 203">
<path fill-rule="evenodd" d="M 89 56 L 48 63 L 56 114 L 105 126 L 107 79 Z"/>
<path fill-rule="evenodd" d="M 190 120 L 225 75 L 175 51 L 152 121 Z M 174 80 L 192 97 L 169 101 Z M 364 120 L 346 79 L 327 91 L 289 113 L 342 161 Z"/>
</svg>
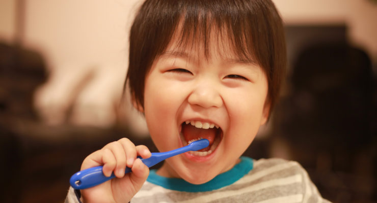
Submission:
<svg viewBox="0 0 377 203">
<path fill-rule="evenodd" d="M 348 45 L 344 26 L 288 26 L 287 41 L 287 90 L 272 137 L 288 143 L 291 159 L 308 170 L 323 196 L 375 199 L 376 89 L 369 57 Z"/>
</svg>

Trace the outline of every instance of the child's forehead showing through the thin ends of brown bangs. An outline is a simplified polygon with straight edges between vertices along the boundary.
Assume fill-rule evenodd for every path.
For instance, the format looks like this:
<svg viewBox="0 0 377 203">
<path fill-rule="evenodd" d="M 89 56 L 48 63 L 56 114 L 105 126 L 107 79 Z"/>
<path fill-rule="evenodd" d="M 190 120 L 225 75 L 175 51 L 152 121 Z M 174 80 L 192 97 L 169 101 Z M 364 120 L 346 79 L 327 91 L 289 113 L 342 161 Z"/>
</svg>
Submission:
<svg viewBox="0 0 377 203">
<path fill-rule="evenodd" d="M 234 39 L 238 38 L 238 39 Z M 243 36 L 234 36 L 224 26 L 210 26 L 205 30 L 187 27 L 180 22 L 174 30 L 166 49 L 160 55 L 197 57 L 211 60 L 222 58 L 245 63 L 256 63 L 255 57 L 249 51 L 250 47 L 243 40 Z M 236 41 L 243 41 L 241 45 Z"/>
</svg>

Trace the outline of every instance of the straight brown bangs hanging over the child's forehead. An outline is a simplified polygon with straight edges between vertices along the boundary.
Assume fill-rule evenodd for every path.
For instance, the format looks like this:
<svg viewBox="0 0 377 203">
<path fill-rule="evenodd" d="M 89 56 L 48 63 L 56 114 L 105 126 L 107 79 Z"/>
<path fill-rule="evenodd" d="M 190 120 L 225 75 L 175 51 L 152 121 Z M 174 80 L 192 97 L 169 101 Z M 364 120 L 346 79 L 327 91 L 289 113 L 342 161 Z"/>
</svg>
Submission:
<svg viewBox="0 0 377 203">
<path fill-rule="evenodd" d="M 243 15 L 224 15 L 234 9 L 227 6 L 226 9 L 214 5 L 211 7 L 208 4 L 201 9 L 185 8 L 174 26 L 175 31 L 172 30 L 170 46 L 177 50 L 200 50 L 197 54 L 204 55 L 206 60 L 211 58 L 210 47 L 216 47 L 222 57 L 257 62 L 252 49 L 252 33 Z M 166 48 L 161 50 L 166 51 Z"/>
</svg>

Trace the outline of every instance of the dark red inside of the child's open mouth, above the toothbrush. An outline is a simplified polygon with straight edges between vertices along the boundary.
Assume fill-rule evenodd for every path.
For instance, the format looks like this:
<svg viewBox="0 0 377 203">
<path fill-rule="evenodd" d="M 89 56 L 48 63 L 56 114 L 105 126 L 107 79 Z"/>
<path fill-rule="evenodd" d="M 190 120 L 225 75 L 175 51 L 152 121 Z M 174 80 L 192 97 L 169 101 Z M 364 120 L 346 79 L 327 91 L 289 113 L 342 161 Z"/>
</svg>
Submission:
<svg viewBox="0 0 377 203">
<path fill-rule="evenodd" d="M 209 145 L 212 145 L 213 140 L 216 137 L 216 128 L 203 129 L 190 124 L 183 124 L 182 134 L 186 142 L 203 138 L 209 141 Z"/>
</svg>

